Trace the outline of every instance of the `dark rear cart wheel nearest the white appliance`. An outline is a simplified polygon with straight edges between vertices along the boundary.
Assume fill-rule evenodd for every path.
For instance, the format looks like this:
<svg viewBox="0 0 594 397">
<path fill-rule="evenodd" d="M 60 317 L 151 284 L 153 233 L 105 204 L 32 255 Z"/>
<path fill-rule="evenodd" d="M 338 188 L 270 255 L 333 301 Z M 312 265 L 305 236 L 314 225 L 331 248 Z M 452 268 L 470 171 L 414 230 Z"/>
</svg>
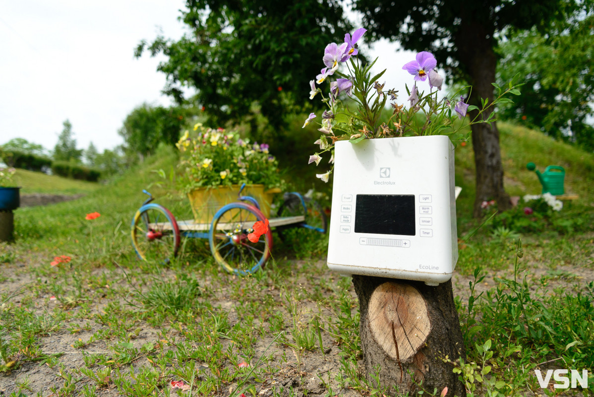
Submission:
<svg viewBox="0 0 594 397">
<path fill-rule="evenodd" d="M 307 231 L 306 234 L 308 237 L 315 239 L 319 237 L 318 233 L 326 234 L 328 231 L 328 220 L 324 209 L 317 201 L 298 193 L 289 193 L 287 196 L 285 196 L 285 201 L 280 205 L 277 216 L 305 215 L 305 222 L 298 225 L 279 226 L 276 228 L 283 242 L 294 241 L 293 234 L 295 233 L 302 235 Z"/>
</svg>

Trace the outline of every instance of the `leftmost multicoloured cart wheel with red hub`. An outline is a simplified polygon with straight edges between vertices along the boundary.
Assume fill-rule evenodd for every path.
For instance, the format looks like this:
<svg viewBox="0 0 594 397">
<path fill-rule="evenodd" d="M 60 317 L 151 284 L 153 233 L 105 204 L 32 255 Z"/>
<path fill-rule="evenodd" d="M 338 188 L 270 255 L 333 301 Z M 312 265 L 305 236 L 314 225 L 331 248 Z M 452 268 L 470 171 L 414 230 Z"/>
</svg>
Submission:
<svg viewBox="0 0 594 397">
<path fill-rule="evenodd" d="M 171 212 L 159 204 L 145 204 L 132 219 L 132 245 L 142 260 L 175 257 L 179 248 L 179 227 Z"/>
</svg>

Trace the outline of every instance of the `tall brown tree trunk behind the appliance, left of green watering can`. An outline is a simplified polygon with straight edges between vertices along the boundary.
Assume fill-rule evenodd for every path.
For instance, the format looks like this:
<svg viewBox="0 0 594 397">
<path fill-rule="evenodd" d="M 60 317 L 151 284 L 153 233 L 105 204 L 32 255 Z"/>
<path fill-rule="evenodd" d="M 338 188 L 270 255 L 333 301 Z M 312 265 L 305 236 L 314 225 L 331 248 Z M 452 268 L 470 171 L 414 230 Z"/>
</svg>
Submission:
<svg viewBox="0 0 594 397">
<path fill-rule="evenodd" d="M 464 15 L 463 23 L 454 40 L 460 55 L 460 62 L 464 64 L 472 86 L 472 94 L 468 99 L 470 105 L 482 108 L 481 98 L 493 103 L 495 99 L 494 87 L 497 56 L 493 51 L 494 27 L 482 24 L 472 17 Z M 489 108 L 481 119 L 488 119 L 494 112 Z M 468 112 L 470 120 L 476 118 L 478 110 Z M 501 164 L 501 149 L 499 146 L 499 131 L 497 123 L 473 124 L 472 147 L 475 152 L 476 196 L 473 206 L 473 216 L 482 215 L 482 201 L 495 200 L 500 210 L 511 208 L 510 196 L 503 188 L 503 166 Z"/>
</svg>

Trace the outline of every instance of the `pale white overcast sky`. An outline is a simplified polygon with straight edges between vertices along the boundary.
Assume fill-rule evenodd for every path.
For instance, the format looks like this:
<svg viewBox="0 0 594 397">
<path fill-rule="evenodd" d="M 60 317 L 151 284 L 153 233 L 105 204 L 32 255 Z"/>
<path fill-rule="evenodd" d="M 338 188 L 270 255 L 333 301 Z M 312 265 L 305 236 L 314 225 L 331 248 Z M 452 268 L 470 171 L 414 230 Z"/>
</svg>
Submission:
<svg viewBox="0 0 594 397">
<path fill-rule="evenodd" d="M 100 151 L 123 143 L 118 129 L 132 109 L 171 103 L 160 93 L 165 75 L 156 70 L 159 58 L 135 59 L 134 48 L 160 31 L 181 37 L 177 18 L 184 4 L 0 0 L 0 144 L 21 137 L 53 149 L 66 119 L 80 149 L 91 141 Z M 377 55 L 374 71 L 388 68 L 384 88 L 399 89 L 402 103 L 404 84 L 412 83 L 402 65 L 414 54 L 380 42 L 371 51 Z M 323 49 L 320 68 L 322 56 Z"/>
</svg>

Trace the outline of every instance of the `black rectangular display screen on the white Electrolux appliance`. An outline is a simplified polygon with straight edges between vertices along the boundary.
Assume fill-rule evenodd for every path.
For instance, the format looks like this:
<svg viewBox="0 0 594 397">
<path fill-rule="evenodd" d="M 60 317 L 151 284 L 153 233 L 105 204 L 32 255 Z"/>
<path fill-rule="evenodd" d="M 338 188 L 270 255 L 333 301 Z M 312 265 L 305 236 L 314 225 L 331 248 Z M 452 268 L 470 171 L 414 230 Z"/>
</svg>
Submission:
<svg viewBox="0 0 594 397">
<path fill-rule="evenodd" d="M 416 235 L 415 195 L 357 194 L 355 233 Z"/>
</svg>

